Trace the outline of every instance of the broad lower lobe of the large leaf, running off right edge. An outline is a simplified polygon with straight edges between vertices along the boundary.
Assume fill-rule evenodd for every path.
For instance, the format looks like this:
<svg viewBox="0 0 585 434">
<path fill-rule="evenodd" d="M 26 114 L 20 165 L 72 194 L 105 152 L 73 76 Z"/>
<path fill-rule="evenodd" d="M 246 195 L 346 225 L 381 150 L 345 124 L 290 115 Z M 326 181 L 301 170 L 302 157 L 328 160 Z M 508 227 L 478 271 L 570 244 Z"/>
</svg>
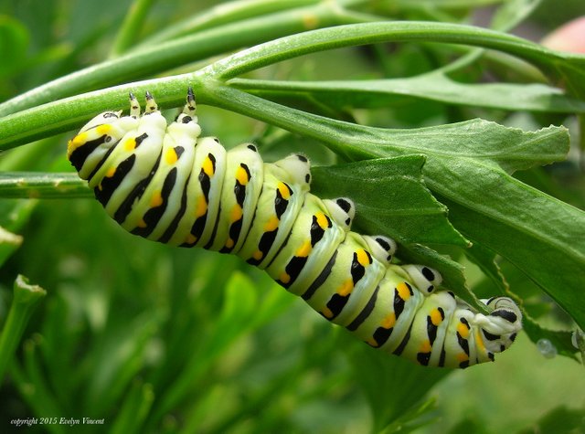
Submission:
<svg viewBox="0 0 585 434">
<path fill-rule="evenodd" d="M 585 281 L 585 213 L 513 178 L 500 179 L 476 185 L 469 196 L 482 197 L 484 206 L 442 198 L 453 225 L 523 270 L 582 328 L 585 293 L 574 289 Z"/>
</svg>

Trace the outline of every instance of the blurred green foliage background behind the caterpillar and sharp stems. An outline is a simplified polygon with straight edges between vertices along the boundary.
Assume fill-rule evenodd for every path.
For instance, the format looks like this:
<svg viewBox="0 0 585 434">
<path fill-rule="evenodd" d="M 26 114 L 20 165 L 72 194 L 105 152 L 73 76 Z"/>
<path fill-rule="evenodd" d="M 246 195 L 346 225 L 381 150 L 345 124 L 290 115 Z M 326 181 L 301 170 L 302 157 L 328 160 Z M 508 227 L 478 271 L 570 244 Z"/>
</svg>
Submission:
<svg viewBox="0 0 585 434">
<path fill-rule="evenodd" d="M 393 17 L 477 22 L 502 2 L 438 3 L 396 2 Z M 107 58 L 131 4 L 0 1 L 0 101 Z M 154 2 L 141 35 L 214 4 Z M 519 32 L 539 37 L 581 14 L 582 1 L 565 0 L 562 7 L 543 1 Z M 439 54 L 429 50 L 411 44 L 355 48 L 259 74 L 364 78 L 383 69 L 387 76 L 409 76 L 437 66 Z M 480 67 L 470 74 L 481 76 Z M 198 114 L 204 132 L 228 146 L 253 140 L 269 161 L 302 149 L 314 162 L 335 162 L 320 144 L 283 138 L 259 122 L 205 106 Z M 360 122 L 397 128 L 475 116 L 527 128 L 574 124 L 559 115 L 510 115 L 409 98 L 388 110 L 355 114 Z M 0 169 L 70 171 L 65 143 L 72 134 L 5 153 Z M 571 170 L 560 164 L 522 176 L 554 185 L 563 200 L 583 206 L 582 177 Z M 96 201 L 3 199 L 0 210 L 0 224 L 23 236 L 0 270 L 0 323 L 17 273 L 48 291 L 0 388 L 2 432 L 20 431 L 10 421 L 32 417 L 103 419 L 103 425 L 74 432 L 361 433 L 392 420 L 388 432 L 585 432 L 583 366 L 543 357 L 524 333 L 495 364 L 421 369 L 354 342 L 239 259 L 128 235 Z M 487 285 L 471 264 L 468 277 L 480 289 Z M 567 326 L 562 312 L 538 297 L 545 324 Z M 26 429 L 70 432 L 64 423 Z"/>
</svg>

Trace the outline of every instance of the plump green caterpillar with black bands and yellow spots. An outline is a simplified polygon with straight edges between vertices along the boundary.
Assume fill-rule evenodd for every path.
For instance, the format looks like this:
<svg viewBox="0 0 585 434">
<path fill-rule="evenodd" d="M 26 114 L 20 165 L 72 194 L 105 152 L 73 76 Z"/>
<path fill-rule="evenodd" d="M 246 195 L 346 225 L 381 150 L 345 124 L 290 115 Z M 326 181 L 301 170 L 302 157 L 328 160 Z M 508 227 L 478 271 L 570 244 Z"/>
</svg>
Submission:
<svg viewBox="0 0 585 434">
<path fill-rule="evenodd" d="M 150 93 L 130 94 L 130 115 L 105 111 L 69 141 L 68 157 L 108 214 L 135 235 L 240 258 L 327 320 L 420 365 L 466 367 L 494 360 L 521 329 L 506 297 L 484 315 L 436 270 L 390 262 L 396 243 L 350 230 L 355 206 L 309 192 L 303 155 L 264 163 L 253 144 L 226 151 L 199 137 L 195 97 L 167 126 Z"/>
</svg>

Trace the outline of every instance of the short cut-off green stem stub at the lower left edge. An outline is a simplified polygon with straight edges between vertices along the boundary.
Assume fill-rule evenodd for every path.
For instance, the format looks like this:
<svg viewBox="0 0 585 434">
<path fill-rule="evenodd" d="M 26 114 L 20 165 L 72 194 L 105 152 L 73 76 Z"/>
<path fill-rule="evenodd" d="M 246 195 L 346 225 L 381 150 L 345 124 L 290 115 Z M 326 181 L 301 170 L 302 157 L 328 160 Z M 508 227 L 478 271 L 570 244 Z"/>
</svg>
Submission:
<svg viewBox="0 0 585 434">
<path fill-rule="evenodd" d="M 14 299 L 0 336 L 0 378 L 4 377 L 5 369 L 12 360 L 16 346 L 25 332 L 30 315 L 46 294 L 47 291 L 40 286 L 28 284 L 26 277 L 22 275 L 16 277 Z"/>
</svg>

